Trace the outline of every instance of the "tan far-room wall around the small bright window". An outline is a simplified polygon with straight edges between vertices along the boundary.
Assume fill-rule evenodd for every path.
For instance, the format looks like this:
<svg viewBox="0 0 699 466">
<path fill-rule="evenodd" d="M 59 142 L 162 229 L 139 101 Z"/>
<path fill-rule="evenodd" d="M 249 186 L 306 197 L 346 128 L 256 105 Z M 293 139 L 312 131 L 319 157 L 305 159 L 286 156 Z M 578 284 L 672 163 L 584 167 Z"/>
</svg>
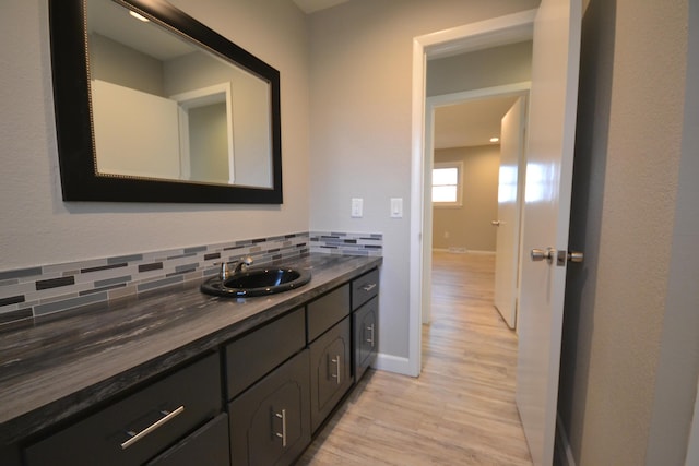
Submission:
<svg viewBox="0 0 699 466">
<path fill-rule="evenodd" d="M 498 171 L 500 146 L 454 147 L 435 151 L 435 163 L 463 163 L 461 207 L 435 207 L 433 247 L 469 251 L 493 251 L 498 217 Z"/>
</svg>

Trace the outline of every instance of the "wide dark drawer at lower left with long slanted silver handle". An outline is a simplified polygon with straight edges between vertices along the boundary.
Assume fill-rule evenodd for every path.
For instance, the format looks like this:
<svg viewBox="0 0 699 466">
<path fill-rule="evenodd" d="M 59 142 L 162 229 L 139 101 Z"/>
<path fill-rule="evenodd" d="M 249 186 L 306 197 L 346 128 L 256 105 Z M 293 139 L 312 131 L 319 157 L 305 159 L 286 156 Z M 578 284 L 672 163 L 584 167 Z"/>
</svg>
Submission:
<svg viewBox="0 0 699 466">
<path fill-rule="evenodd" d="M 215 354 L 27 447 L 26 464 L 139 465 L 220 411 Z"/>
</svg>

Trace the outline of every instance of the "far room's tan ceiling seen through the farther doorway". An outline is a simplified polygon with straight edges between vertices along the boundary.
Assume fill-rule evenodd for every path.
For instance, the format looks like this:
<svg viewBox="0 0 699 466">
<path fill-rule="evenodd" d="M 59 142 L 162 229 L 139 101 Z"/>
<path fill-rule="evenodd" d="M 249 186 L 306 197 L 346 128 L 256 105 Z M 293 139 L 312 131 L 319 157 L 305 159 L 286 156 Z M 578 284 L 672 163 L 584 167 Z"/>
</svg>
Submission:
<svg viewBox="0 0 699 466">
<path fill-rule="evenodd" d="M 435 148 L 470 147 L 500 136 L 500 120 L 517 96 L 490 97 L 435 109 Z"/>
</svg>

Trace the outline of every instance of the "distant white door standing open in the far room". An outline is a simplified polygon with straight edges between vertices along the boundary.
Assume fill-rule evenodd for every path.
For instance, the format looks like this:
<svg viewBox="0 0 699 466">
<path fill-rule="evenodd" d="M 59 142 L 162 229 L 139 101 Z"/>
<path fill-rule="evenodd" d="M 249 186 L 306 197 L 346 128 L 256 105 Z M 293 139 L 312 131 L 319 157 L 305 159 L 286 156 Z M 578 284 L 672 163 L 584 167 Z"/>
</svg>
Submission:
<svg viewBox="0 0 699 466">
<path fill-rule="evenodd" d="M 498 177 L 498 218 L 495 252 L 495 307 L 510 328 L 517 322 L 517 273 L 520 246 L 520 168 L 524 152 L 524 98 L 502 117 L 500 126 L 500 174 Z"/>
</svg>

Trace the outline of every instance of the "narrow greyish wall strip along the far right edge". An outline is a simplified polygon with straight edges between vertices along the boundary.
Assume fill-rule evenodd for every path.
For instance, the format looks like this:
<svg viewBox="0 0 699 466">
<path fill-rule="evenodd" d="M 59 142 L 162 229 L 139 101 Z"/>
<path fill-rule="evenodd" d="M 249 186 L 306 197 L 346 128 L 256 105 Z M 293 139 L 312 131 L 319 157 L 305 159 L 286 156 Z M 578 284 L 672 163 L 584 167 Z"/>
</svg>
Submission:
<svg viewBox="0 0 699 466">
<path fill-rule="evenodd" d="M 692 406 L 699 406 L 695 405 L 699 377 L 699 3 L 688 3 L 682 160 L 647 465 L 682 464 L 692 422 Z M 680 24 L 678 28 L 682 31 Z M 688 466 L 699 464 L 697 409 L 694 410 L 696 456 L 687 457 L 685 464 Z"/>
</svg>

